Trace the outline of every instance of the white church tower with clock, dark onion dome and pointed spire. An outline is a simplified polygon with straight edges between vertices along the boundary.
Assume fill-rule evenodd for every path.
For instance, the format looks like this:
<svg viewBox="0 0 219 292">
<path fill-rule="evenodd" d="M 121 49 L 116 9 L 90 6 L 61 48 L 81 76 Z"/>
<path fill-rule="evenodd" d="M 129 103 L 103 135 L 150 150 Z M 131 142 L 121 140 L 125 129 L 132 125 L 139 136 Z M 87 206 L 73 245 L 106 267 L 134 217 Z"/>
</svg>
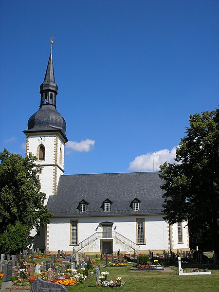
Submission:
<svg viewBox="0 0 219 292">
<path fill-rule="evenodd" d="M 58 86 L 55 83 L 53 56 L 51 51 L 43 83 L 40 85 L 40 106 L 28 121 L 28 129 L 23 131 L 26 138 L 26 155 L 30 152 L 37 156 L 37 163 L 43 166 L 39 174 L 41 191 L 49 196 L 56 194 L 60 175 L 64 174 L 64 146 L 66 123 L 56 110 Z"/>
</svg>

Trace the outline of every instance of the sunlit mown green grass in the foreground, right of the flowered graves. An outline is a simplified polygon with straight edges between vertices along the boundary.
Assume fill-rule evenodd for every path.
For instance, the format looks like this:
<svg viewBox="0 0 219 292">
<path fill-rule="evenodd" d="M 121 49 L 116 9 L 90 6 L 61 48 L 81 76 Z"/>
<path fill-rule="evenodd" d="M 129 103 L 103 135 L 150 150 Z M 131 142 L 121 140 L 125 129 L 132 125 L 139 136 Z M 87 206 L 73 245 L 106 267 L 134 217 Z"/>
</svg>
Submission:
<svg viewBox="0 0 219 292">
<path fill-rule="evenodd" d="M 176 270 L 176 269 L 175 269 Z M 101 268 L 101 272 L 110 272 L 108 279 L 115 280 L 121 276 L 126 283 L 122 291 L 128 292 L 218 292 L 219 291 L 219 270 L 212 270 L 212 275 L 200 276 L 179 276 L 177 272 L 130 272 L 129 267 Z M 84 284 L 77 284 L 75 287 L 68 287 L 68 292 L 83 290 L 91 292 L 95 287 L 96 275 L 94 274 Z M 102 288 L 101 290 L 112 288 Z"/>
</svg>

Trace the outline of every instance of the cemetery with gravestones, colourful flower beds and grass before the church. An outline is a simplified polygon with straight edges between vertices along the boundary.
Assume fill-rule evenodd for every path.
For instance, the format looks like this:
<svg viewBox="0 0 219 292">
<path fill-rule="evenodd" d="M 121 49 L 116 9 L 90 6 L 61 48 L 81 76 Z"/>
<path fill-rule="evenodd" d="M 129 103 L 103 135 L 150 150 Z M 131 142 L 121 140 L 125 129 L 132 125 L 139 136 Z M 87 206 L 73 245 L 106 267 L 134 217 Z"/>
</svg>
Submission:
<svg viewBox="0 0 219 292">
<path fill-rule="evenodd" d="M 132 291 L 129 289 L 136 281 L 139 283 L 138 291 L 141 292 L 144 291 L 144 283 L 148 285 L 150 281 L 153 283 L 160 277 L 165 278 L 167 282 L 172 278 L 172 284 L 181 282 L 180 279 L 186 279 L 186 281 L 190 279 L 193 285 L 196 285 L 197 281 L 192 279 L 197 276 L 199 281 L 203 277 L 207 279 L 205 283 L 214 279 L 215 284 L 219 284 L 217 258 L 213 256 L 212 262 L 208 263 L 206 256 L 201 252 L 179 252 L 179 255 L 165 251 L 163 255 L 153 255 L 150 251 L 148 255 L 135 253 L 122 255 L 118 252 L 115 255 L 106 253 L 92 257 L 75 253 L 74 250 L 71 255 L 63 251 L 58 251 L 57 254 L 47 252 L 44 251 L 42 254 L 38 250 L 28 249 L 23 250 L 19 256 L 2 254 L 0 292 L 16 292 L 17 290 L 67 292 L 81 289 L 91 291 L 93 288 L 122 288 L 125 291 Z M 149 271 L 156 273 L 148 273 Z M 193 275 L 193 277 L 186 277 L 186 275 Z M 209 276 L 206 277 L 206 275 Z M 168 285 L 161 291 L 170 291 Z M 193 287 L 191 291 L 196 290 Z"/>
</svg>

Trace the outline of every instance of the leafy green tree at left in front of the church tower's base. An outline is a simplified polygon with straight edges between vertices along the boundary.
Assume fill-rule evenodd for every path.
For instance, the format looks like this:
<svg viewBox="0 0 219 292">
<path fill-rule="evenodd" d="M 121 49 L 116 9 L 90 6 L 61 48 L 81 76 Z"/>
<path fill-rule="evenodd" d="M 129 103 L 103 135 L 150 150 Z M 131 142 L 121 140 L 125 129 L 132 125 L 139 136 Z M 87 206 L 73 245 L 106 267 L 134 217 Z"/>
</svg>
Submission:
<svg viewBox="0 0 219 292">
<path fill-rule="evenodd" d="M 40 192 L 38 177 L 42 166 L 35 164 L 35 161 L 36 157 L 32 154 L 23 158 L 6 149 L 0 153 L 1 243 L 2 238 L 5 239 L 7 235 L 10 237 L 11 230 L 19 230 L 22 239 L 25 232 L 28 236 L 33 228 L 38 231 L 40 225 L 49 223 L 52 214 L 48 213 L 47 206 L 43 205 L 46 195 Z M 17 242 L 20 247 L 19 240 Z"/>
</svg>

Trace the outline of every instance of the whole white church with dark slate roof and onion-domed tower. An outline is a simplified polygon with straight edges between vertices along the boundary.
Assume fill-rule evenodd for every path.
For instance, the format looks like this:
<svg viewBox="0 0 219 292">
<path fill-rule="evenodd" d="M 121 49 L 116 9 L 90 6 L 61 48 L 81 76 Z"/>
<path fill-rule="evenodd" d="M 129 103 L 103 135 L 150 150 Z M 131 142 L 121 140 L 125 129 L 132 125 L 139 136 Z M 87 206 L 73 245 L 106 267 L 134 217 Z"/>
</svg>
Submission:
<svg viewBox="0 0 219 292">
<path fill-rule="evenodd" d="M 35 248 L 87 254 L 189 250 L 186 222 L 163 219 L 158 172 L 64 175 L 66 122 L 56 110 L 52 44 L 40 106 L 28 121 L 26 155 L 43 166 L 45 203 L 53 214 L 36 236 Z"/>
</svg>

